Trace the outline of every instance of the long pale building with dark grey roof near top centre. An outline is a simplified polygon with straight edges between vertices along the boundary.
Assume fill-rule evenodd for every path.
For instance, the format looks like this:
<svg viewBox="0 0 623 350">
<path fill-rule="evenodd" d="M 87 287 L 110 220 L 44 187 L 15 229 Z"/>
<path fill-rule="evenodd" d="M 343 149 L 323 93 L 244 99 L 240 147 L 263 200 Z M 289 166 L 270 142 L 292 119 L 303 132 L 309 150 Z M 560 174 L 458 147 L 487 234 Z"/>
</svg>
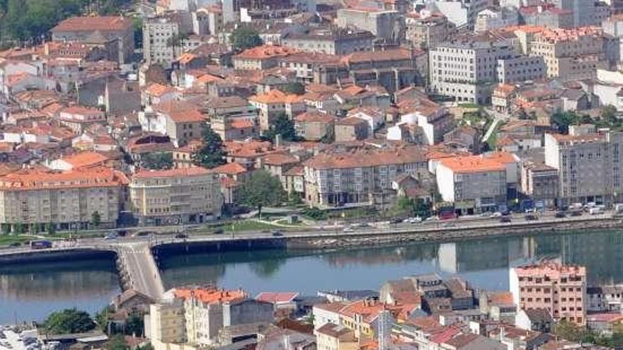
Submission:
<svg viewBox="0 0 623 350">
<path fill-rule="evenodd" d="M 321 54 L 350 54 L 372 51 L 375 35 L 365 30 L 314 30 L 304 34 L 287 34 L 283 46 Z"/>
</svg>

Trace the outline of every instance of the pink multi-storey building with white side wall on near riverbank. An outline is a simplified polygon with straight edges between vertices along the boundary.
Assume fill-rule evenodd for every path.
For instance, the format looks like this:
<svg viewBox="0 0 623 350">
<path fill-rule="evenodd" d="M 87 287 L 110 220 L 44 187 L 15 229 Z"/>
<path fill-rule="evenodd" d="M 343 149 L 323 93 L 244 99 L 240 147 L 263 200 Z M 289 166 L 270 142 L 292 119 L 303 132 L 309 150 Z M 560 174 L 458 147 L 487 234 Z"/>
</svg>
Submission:
<svg viewBox="0 0 623 350">
<path fill-rule="evenodd" d="M 543 262 L 510 269 L 510 292 L 518 309 L 544 308 L 554 320 L 586 322 L 586 268 Z"/>
</svg>

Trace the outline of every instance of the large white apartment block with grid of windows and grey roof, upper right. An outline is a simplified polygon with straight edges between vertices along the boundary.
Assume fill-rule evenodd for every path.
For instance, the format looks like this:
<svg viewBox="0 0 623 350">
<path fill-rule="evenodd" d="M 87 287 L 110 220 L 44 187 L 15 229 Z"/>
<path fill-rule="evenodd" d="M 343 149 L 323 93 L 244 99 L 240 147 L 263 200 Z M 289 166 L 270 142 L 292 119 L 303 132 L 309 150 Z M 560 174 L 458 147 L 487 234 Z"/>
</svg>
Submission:
<svg viewBox="0 0 623 350">
<path fill-rule="evenodd" d="M 508 40 L 470 35 L 430 49 L 430 90 L 459 102 L 485 104 L 498 81 L 499 59 L 516 57 Z"/>
</svg>

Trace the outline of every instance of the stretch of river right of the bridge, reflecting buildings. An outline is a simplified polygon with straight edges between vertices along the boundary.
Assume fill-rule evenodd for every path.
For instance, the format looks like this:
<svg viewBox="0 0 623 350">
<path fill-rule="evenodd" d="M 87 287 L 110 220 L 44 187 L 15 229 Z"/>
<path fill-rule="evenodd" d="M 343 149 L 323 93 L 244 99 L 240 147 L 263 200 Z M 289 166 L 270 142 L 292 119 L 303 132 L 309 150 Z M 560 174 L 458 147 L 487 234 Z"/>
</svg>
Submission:
<svg viewBox="0 0 623 350">
<path fill-rule="evenodd" d="M 484 288 L 507 288 L 508 267 L 537 259 L 583 264 L 591 283 L 623 281 L 622 232 L 538 234 L 460 243 L 363 247 L 336 252 L 230 252 L 170 257 L 161 269 L 168 286 L 214 281 L 253 292 L 377 288 L 406 274 L 462 274 Z"/>
</svg>

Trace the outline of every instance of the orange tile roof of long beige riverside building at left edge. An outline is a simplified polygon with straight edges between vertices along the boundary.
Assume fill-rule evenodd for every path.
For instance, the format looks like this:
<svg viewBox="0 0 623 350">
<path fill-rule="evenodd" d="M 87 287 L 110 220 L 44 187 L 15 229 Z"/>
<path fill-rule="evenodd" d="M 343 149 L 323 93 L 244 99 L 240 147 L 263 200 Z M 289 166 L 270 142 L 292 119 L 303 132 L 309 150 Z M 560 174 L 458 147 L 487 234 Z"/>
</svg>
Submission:
<svg viewBox="0 0 623 350">
<path fill-rule="evenodd" d="M 74 169 L 67 172 L 26 169 L 0 177 L 0 189 L 3 191 L 117 187 L 127 183 L 123 173 L 110 168 Z"/>
</svg>

